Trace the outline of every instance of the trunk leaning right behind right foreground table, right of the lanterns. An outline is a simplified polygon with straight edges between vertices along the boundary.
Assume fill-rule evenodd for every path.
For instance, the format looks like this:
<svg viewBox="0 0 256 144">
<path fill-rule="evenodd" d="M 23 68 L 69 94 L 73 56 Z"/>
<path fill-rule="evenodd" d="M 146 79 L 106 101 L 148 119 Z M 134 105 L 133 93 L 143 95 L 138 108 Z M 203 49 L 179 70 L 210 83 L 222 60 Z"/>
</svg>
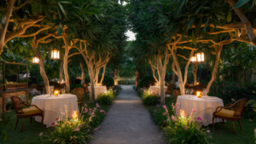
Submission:
<svg viewBox="0 0 256 144">
<path fill-rule="evenodd" d="M 217 70 L 218 70 L 218 61 L 219 61 L 219 57 L 220 57 L 220 53 L 222 50 L 222 46 L 223 45 L 218 45 L 215 47 L 215 53 L 216 53 L 216 60 L 215 60 L 215 65 L 213 67 L 213 71 L 212 71 L 212 79 L 210 80 L 210 82 L 207 84 L 207 93 L 209 92 L 212 83 L 216 80 L 217 78 Z"/>
</svg>

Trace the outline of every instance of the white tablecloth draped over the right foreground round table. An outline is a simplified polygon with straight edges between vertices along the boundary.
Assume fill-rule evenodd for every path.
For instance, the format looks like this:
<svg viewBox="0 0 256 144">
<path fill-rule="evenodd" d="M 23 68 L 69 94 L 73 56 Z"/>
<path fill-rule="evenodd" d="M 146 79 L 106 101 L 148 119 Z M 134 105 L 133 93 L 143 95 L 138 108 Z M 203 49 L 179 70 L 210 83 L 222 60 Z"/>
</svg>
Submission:
<svg viewBox="0 0 256 144">
<path fill-rule="evenodd" d="M 192 95 L 178 95 L 177 102 L 180 103 L 176 113 L 180 114 L 180 109 L 185 111 L 185 114 L 188 115 L 192 112 L 192 108 L 195 108 L 197 111 L 193 112 L 193 117 L 201 118 L 204 125 L 212 124 L 212 113 L 215 112 L 217 107 L 223 107 L 223 101 L 218 97 L 207 96 L 206 99 L 197 98 L 196 95 L 193 95 L 192 99 L 189 96 Z M 215 118 L 214 123 L 222 122 L 221 118 Z"/>
</svg>

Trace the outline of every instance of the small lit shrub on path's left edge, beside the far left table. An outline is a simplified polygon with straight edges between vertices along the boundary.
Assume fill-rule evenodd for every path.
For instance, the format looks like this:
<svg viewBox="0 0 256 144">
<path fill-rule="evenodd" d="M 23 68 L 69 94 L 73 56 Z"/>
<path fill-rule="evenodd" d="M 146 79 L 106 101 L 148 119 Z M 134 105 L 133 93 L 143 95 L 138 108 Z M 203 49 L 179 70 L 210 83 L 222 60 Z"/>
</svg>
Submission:
<svg viewBox="0 0 256 144">
<path fill-rule="evenodd" d="M 96 98 L 96 102 L 100 105 L 111 105 L 113 103 L 115 96 L 113 95 L 113 90 L 109 89 L 107 93 L 102 93 Z"/>
</svg>

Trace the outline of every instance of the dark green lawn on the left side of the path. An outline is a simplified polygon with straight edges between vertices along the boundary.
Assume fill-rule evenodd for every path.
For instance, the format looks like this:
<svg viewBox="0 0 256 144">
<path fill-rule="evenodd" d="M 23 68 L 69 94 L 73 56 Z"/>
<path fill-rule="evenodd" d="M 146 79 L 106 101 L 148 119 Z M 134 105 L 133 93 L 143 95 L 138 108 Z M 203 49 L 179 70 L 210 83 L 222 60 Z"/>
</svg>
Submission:
<svg viewBox="0 0 256 144">
<path fill-rule="evenodd" d="M 84 94 L 84 103 L 88 105 L 88 107 L 95 107 L 95 103 L 90 103 L 89 95 Z M 108 112 L 108 109 L 111 107 L 111 105 L 101 106 L 101 109 L 103 109 L 105 112 Z M 24 107 L 26 108 L 26 107 Z M 19 124 L 17 126 L 17 129 L 15 130 L 15 124 L 16 124 L 16 114 L 14 111 L 7 112 L 7 116 L 11 116 L 11 124 L 13 124 L 12 129 L 5 129 L 7 131 L 7 141 L 3 141 L 3 138 L 0 139 L 1 144 L 35 144 L 35 143 L 41 143 L 41 136 L 39 134 L 41 132 L 45 134 L 49 134 L 49 130 L 46 129 L 46 125 L 43 126 L 41 129 L 40 123 L 36 122 L 34 118 L 32 118 L 32 124 L 30 124 L 30 118 L 26 118 L 24 121 L 23 126 L 23 132 L 20 132 L 22 119 L 20 119 Z M 99 118 L 99 124 L 102 123 L 102 120 L 104 119 L 105 115 L 101 118 Z"/>
</svg>

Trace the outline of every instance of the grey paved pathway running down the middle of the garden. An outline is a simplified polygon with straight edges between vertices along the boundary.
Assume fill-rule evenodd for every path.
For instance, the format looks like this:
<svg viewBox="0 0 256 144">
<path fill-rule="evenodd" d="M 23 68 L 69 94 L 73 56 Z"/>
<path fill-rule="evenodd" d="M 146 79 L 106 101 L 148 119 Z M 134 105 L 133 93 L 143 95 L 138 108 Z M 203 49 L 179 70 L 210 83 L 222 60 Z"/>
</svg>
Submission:
<svg viewBox="0 0 256 144">
<path fill-rule="evenodd" d="M 148 109 L 131 85 L 122 91 L 109 109 L 101 129 L 90 144 L 166 144 Z"/>
</svg>

